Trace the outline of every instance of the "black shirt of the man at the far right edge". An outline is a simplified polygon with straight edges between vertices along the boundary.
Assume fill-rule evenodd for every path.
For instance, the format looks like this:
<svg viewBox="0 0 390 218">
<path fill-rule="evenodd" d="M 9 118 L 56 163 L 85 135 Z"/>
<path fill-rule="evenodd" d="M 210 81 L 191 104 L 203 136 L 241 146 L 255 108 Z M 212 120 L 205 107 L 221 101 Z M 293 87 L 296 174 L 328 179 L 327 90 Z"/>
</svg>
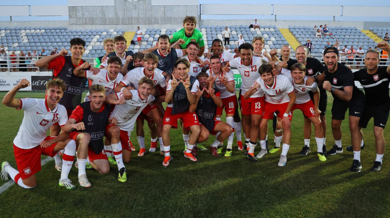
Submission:
<svg viewBox="0 0 390 218">
<path fill-rule="evenodd" d="M 379 66 L 374 74 L 367 73 L 367 68 L 353 73 L 354 80 L 359 81 L 366 93 L 366 106 L 390 106 L 389 79 L 387 67 Z"/>
</svg>

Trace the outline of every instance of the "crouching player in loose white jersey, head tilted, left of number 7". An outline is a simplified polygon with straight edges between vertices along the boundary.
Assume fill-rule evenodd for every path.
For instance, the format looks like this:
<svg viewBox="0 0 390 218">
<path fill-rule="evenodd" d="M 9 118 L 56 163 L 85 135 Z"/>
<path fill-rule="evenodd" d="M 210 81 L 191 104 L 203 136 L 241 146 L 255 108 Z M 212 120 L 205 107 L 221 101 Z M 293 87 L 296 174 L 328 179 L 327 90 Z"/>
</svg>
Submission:
<svg viewBox="0 0 390 218">
<path fill-rule="evenodd" d="M 142 77 L 138 82 L 137 90 L 130 90 L 130 94 L 128 95 L 130 99 L 126 100 L 123 105 L 117 105 L 110 115 L 110 118 L 117 119 L 116 126 L 120 129 L 120 132 L 118 131 L 117 134 L 120 134 L 119 145 L 121 145 L 123 161 L 125 163 L 129 162 L 131 158 L 132 149 L 130 145 L 130 136 L 134 129 L 134 125 L 136 124 L 138 115 L 150 103 L 155 103 L 158 100 L 158 98 L 153 95 L 150 96 L 153 86 L 154 82 L 152 79 L 146 76 Z M 113 95 L 115 95 L 117 99 L 124 96 L 123 92 L 118 92 Z M 161 96 L 160 102 L 162 102 L 163 99 L 164 96 Z"/>
</svg>

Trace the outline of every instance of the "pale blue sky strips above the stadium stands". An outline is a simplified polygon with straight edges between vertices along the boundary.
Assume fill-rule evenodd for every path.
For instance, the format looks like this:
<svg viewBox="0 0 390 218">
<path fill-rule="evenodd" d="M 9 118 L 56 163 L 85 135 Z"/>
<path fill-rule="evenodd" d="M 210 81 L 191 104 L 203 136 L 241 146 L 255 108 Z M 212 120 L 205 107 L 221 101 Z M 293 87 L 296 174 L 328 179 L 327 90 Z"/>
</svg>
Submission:
<svg viewBox="0 0 390 218">
<path fill-rule="evenodd" d="M 237 0 L 198 0 L 199 4 L 220 4 L 223 2 L 224 4 L 236 4 Z M 340 3 L 341 2 L 341 3 Z M 13 0 L 13 1 L 5 1 L 1 0 L 0 5 L 67 5 L 67 0 Z M 304 4 L 304 5 L 344 5 L 344 6 L 390 6 L 389 0 L 324 0 L 314 1 L 314 0 L 239 0 L 241 4 Z M 248 16 L 203 16 L 203 19 L 254 19 L 259 18 L 256 15 L 248 15 Z M 273 19 L 274 16 L 261 16 L 262 19 Z M 292 19 L 284 18 L 283 16 L 279 16 L 278 19 Z M 293 19 L 296 20 L 332 20 L 332 17 L 308 17 L 304 16 L 304 12 L 302 16 L 294 16 Z M 0 21 L 8 21 L 9 17 L 1 17 Z M 12 20 L 68 20 L 68 16 L 59 16 L 59 17 L 22 17 L 22 16 L 14 16 Z M 386 21 L 386 18 L 360 18 L 360 17 L 336 17 L 336 20 L 351 20 L 351 21 Z"/>
</svg>

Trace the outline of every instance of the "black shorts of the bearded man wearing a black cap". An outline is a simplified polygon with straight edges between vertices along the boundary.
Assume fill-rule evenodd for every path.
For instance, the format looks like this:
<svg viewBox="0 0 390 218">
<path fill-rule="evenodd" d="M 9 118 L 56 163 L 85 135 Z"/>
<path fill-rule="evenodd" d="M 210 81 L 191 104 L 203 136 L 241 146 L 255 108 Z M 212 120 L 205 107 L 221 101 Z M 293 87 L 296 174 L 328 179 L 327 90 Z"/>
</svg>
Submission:
<svg viewBox="0 0 390 218">
<path fill-rule="evenodd" d="M 357 96 L 352 97 L 351 101 L 342 101 L 339 99 L 333 99 L 332 105 L 332 120 L 344 120 L 345 113 L 349 109 L 349 115 L 354 117 L 362 117 L 364 104 L 365 104 L 364 94 L 358 94 Z"/>
</svg>

